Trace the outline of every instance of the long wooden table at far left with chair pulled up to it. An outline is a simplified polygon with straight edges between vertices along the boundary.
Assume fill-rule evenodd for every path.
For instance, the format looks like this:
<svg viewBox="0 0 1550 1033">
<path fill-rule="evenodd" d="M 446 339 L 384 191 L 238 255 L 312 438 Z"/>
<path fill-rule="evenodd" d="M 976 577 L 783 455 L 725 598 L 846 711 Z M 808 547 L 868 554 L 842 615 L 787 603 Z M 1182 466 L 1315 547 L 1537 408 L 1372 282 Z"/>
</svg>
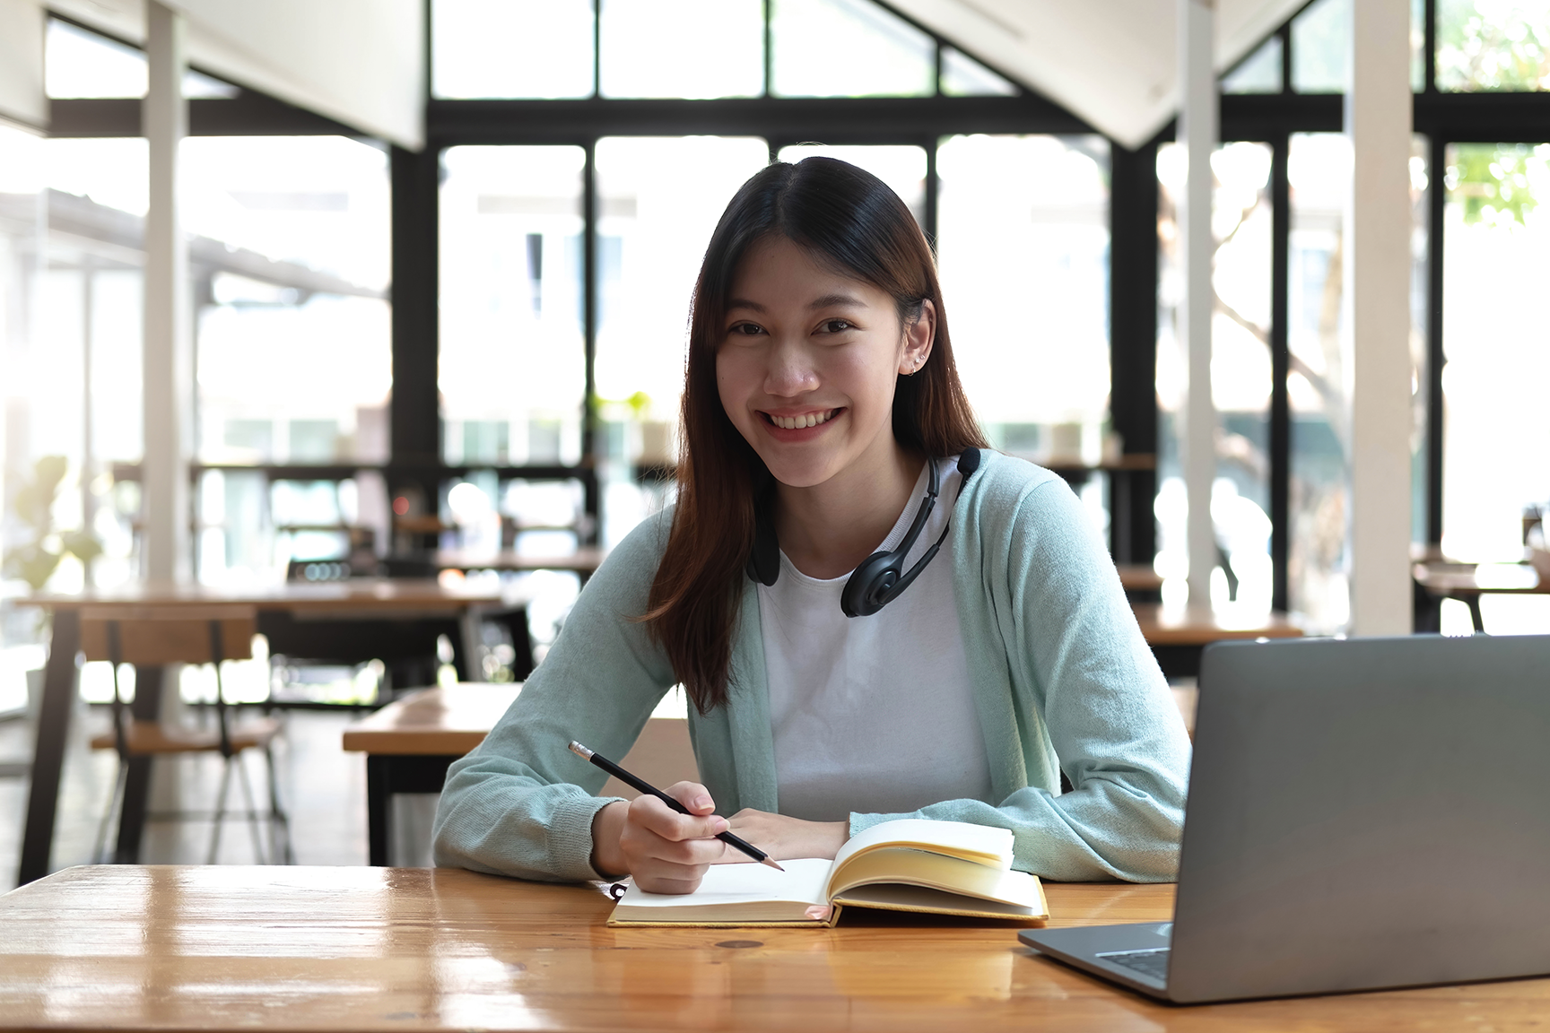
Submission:
<svg viewBox="0 0 1550 1033">
<path fill-rule="evenodd" d="M 84 606 L 180 606 L 246 604 L 259 610 L 259 630 L 265 615 L 293 615 L 298 619 L 383 619 L 462 618 L 473 607 L 493 606 L 499 592 L 443 587 L 436 581 L 356 579 L 336 582 L 285 582 L 245 592 L 205 585 L 132 584 L 122 589 L 82 595 L 43 595 L 17 599 L 17 606 L 37 606 L 53 612 L 48 666 L 43 674 L 43 700 L 37 717 L 37 748 L 26 804 L 26 830 L 22 838 L 19 884 L 48 875 L 48 853 L 54 838 L 54 810 L 59 804 L 59 777 L 65 760 L 65 734 L 70 726 L 70 697 L 76 691 L 76 652 L 81 646 L 79 610 Z M 460 649 L 460 643 L 454 643 Z M 135 717 L 155 720 L 161 706 L 158 671 L 136 672 Z M 130 762 L 124 788 L 124 819 L 119 821 L 116 855 L 135 858 L 144 827 L 146 793 L 150 787 L 149 759 Z"/>
</svg>

